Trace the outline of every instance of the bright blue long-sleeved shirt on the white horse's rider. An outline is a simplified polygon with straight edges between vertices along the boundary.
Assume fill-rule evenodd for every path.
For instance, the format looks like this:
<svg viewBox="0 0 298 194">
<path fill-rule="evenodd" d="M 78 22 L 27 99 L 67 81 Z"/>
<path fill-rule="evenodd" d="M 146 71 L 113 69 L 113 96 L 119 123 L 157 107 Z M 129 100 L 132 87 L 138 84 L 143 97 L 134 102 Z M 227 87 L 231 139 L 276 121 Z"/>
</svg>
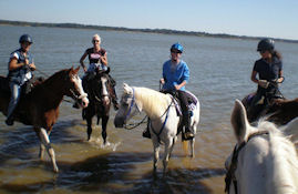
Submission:
<svg viewBox="0 0 298 194">
<path fill-rule="evenodd" d="M 178 64 L 172 64 L 171 60 L 166 61 L 163 65 L 163 78 L 165 80 L 164 90 L 175 90 L 175 85 L 183 81 L 188 82 L 189 70 L 186 62 L 181 60 Z M 185 91 L 185 86 L 179 90 Z"/>
</svg>

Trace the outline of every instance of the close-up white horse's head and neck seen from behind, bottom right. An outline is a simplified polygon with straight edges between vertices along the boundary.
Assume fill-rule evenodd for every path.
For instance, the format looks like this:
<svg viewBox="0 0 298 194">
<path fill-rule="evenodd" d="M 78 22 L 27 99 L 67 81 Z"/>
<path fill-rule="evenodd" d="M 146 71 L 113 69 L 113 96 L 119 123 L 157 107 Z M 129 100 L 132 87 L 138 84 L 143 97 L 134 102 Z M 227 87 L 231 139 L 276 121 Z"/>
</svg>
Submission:
<svg viewBox="0 0 298 194">
<path fill-rule="evenodd" d="M 268 121 L 248 123 L 238 100 L 230 118 L 237 140 L 226 161 L 226 192 L 239 194 L 298 193 L 298 156 L 294 143 Z M 295 123 L 292 123 L 295 122 Z M 291 127 L 298 129 L 298 119 Z M 294 125 L 295 124 L 295 125 Z M 285 126 L 287 131 L 288 126 Z"/>
</svg>

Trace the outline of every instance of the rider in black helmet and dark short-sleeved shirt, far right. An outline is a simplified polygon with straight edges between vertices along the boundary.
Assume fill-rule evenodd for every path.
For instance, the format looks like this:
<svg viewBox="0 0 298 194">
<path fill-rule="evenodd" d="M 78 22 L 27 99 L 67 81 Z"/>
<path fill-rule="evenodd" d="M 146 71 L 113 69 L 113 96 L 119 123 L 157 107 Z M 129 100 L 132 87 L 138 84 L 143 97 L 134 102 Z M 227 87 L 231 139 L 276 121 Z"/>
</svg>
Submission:
<svg viewBox="0 0 298 194">
<path fill-rule="evenodd" d="M 258 90 L 248 109 L 248 120 L 254 121 L 260 113 L 258 104 L 264 101 L 264 105 L 274 98 L 282 98 L 278 90 L 278 83 L 284 81 L 281 54 L 275 50 L 274 40 L 263 39 L 258 43 L 257 51 L 261 58 L 255 62 L 251 81 L 258 84 Z M 257 79 L 258 74 L 258 79 Z"/>
</svg>

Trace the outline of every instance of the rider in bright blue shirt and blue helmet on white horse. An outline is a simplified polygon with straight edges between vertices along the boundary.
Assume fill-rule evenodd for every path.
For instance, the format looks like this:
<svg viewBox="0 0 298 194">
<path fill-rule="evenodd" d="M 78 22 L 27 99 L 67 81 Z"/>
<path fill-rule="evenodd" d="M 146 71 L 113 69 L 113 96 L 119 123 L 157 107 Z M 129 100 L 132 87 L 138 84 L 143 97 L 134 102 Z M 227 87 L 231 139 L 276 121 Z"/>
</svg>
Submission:
<svg viewBox="0 0 298 194">
<path fill-rule="evenodd" d="M 191 118 L 188 111 L 188 101 L 185 92 L 185 85 L 189 80 L 189 70 L 182 58 L 183 47 L 179 43 L 174 43 L 171 49 L 171 60 L 163 64 L 163 78 L 160 82 L 163 84 L 162 92 L 172 93 L 177 95 L 181 101 L 181 106 L 183 111 L 183 123 L 185 126 L 185 132 L 183 139 L 189 140 L 194 137 L 191 132 Z M 148 127 L 143 133 L 143 136 L 150 137 Z"/>
</svg>

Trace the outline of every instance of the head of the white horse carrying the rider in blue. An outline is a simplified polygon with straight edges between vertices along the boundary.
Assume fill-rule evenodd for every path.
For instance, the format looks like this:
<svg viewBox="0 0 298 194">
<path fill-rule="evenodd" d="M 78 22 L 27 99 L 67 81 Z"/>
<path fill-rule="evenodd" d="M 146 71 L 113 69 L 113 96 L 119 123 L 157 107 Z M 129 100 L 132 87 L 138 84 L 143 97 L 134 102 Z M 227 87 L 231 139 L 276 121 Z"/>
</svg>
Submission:
<svg viewBox="0 0 298 194">
<path fill-rule="evenodd" d="M 120 102 L 120 109 L 116 113 L 114 124 L 116 127 L 123 127 L 123 125 L 133 118 L 136 113 L 142 111 L 142 104 L 135 99 L 134 89 L 129 84 L 123 84 L 123 94 Z"/>
</svg>

